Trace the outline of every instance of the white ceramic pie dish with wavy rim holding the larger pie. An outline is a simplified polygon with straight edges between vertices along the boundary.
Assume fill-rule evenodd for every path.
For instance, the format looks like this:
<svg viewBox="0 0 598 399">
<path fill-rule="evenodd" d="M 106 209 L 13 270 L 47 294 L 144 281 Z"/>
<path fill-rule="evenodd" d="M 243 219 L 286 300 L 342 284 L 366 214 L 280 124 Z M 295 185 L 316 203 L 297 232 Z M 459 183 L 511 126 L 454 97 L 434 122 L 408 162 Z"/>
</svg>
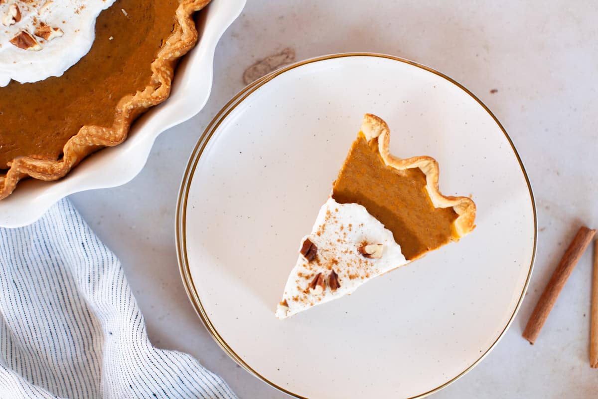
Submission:
<svg viewBox="0 0 598 399">
<path fill-rule="evenodd" d="M 193 117 L 208 101 L 216 44 L 244 6 L 245 0 L 213 0 L 199 13 L 199 42 L 179 64 L 170 98 L 136 121 L 123 144 L 88 157 L 65 178 L 19 182 L 13 194 L 0 201 L 0 227 L 25 226 L 69 194 L 115 187 L 134 178 L 144 167 L 155 138 Z"/>
</svg>

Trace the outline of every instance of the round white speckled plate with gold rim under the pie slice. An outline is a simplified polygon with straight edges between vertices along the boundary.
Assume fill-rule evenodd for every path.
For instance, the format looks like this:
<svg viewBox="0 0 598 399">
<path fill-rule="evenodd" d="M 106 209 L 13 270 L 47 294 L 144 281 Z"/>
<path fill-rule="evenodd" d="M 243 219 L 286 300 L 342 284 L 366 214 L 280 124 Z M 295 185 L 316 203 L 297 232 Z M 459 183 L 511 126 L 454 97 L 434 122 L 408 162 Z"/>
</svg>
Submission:
<svg viewBox="0 0 598 399">
<path fill-rule="evenodd" d="M 383 117 L 399 157 L 440 162 L 477 229 L 350 297 L 274 318 L 297 246 L 361 125 Z M 177 212 L 181 273 L 222 348 L 296 397 L 426 395 L 471 369 L 517 312 L 536 223 L 523 165 L 489 109 L 413 62 L 340 54 L 243 90 L 200 139 Z"/>
</svg>

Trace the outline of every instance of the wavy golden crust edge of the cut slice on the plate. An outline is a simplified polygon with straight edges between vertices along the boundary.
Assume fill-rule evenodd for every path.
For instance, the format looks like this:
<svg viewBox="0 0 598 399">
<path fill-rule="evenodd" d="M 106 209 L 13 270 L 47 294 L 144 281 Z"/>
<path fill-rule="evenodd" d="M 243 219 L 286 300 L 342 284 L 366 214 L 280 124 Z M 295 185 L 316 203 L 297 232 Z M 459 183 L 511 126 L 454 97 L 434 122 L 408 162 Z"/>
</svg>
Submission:
<svg viewBox="0 0 598 399">
<path fill-rule="evenodd" d="M 453 208 L 457 219 L 454 221 L 455 232 L 458 237 L 465 236 L 475 227 L 475 203 L 468 197 L 447 197 L 443 196 L 438 189 L 438 162 L 432 157 L 420 156 L 408 159 L 400 159 L 392 156 L 389 150 L 390 129 L 382 118 L 373 114 L 365 114 L 361 125 L 361 132 L 370 141 L 378 138 L 378 150 L 386 165 L 395 169 L 409 169 L 419 167 L 426 175 L 426 189 L 432 203 L 436 208 Z"/>
</svg>

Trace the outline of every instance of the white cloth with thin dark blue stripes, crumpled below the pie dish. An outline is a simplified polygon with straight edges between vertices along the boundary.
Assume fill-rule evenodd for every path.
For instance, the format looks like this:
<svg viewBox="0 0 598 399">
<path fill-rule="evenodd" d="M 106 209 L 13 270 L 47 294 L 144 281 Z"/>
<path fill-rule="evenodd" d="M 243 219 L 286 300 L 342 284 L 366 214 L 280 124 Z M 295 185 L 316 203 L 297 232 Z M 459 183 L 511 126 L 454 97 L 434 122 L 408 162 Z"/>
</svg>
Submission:
<svg viewBox="0 0 598 399">
<path fill-rule="evenodd" d="M 120 262 L 67 199 L 0 229 L 0 398 L 235 398 L 149 343 Z"/>
</svg>

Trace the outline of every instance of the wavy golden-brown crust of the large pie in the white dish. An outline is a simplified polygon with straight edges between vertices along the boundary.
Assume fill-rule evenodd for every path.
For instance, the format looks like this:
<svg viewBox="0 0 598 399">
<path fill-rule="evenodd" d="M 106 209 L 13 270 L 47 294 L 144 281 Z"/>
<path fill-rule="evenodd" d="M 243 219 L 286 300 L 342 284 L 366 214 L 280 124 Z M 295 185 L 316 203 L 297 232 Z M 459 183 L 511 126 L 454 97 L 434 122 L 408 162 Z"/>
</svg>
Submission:
<svg viewBox="0 0 598 399">
<path fill-rule="evenodd" d="M 114 147 L 127 138 L 133 120 L 147 108 L 168 98 L 176 60 L 184 56 L 197 42 L 193 13 L 205 7 L 210 0 L 181 0 L 176 9 L 175 28 L 166 44 L 151 64 L 152 76 L 144 90 L 124 96 L 117 104 L 111 127 L 83 126 L 63 147 L 60 160 L 19 157 L 9 163 L 7 174 L 0 177 L 0 199 L 9 196 L 20 179 L 30 176 L 41 180 L 56 180 L 66 175 L 93 151 Z"/>
</svg>

